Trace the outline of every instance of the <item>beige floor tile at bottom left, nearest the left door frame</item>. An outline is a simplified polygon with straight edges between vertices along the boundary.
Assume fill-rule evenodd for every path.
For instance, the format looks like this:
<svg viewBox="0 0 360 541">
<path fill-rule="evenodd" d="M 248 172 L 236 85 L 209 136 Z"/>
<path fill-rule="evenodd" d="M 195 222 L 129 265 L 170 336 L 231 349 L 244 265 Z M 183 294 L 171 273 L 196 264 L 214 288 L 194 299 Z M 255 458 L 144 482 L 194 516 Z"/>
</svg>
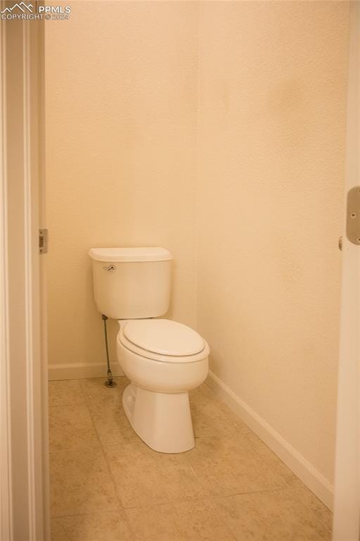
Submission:
<svg viewBox="0 0 360 541">
<path fill-rule="evenodd" d="M 122 510 L 91 515 L 64 516 L 58 522 L 69 541 L 132 541 L 129 521 Z M 59 540 L 60 541 L 60 540 Z"/>
</svg>

